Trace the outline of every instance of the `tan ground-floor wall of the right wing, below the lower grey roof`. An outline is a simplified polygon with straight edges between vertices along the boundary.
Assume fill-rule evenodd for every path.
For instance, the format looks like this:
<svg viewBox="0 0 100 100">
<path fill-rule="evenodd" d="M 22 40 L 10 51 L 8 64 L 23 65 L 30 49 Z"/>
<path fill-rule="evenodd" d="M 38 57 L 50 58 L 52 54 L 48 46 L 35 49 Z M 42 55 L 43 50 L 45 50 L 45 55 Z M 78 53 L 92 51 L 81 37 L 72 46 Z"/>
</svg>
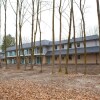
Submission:
<svg viewBox="0 0 100 100">
<path fill-rule="evenodd" d="M 52 57 L 46 57 L 47 64 L 52 64 Z M 77 64 L 84 64 L 84 55 L 80 54 L 77 55 L 77 59 L 75 59 L 75 55 L 69 55 L 68 64 L 75 64 L 75 60 Z M 59 64 L 59 56 L 55 56 L 55 64 Z M 100 63 L 100 56 L 99 54 L 87 54 L 86 55 L 86 63 L 87 64 L 99 64 Z M 66 64 L 66 56 L 63 55 L 61 57 L 61 64 Z"/>
</svg>

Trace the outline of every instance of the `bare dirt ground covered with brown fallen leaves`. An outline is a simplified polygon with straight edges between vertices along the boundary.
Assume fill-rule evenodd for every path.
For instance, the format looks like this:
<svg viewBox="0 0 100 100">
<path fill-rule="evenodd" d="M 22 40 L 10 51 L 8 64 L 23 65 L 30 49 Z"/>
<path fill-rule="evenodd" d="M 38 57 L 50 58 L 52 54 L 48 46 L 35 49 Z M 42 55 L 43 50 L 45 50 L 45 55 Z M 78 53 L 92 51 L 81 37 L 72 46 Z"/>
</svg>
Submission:
<svg viewBox="0 0 100 100">
<path fill-rule="evenodd" d="M 51 66 L 34 66 L 34 70 L 16 70 L 15 65 L 8 69 L 0 68 L 0 100 L 100 100 L 100 67 L 88 65 L 87 75 L 84 66 L 68 66 L 69 74 L 54 74 Z"/>
</svg>

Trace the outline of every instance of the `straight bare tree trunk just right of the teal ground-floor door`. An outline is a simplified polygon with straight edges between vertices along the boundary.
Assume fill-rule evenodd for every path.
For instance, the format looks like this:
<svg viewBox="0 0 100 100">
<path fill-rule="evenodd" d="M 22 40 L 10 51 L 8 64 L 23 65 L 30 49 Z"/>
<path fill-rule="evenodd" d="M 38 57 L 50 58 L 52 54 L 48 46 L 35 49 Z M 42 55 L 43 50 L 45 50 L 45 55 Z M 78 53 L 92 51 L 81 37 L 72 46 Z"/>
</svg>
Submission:
<svg viewBox="0 0 100 100">
<path fill-rule="evenodd" d="M 54 21 L 55 21 L 55 0 L 53 0 L 53 13 L 52 13 L 52 73 L 54 73 L 54 62 L 55 62 L 55 32 L 54 32 Z"/>
</svg>

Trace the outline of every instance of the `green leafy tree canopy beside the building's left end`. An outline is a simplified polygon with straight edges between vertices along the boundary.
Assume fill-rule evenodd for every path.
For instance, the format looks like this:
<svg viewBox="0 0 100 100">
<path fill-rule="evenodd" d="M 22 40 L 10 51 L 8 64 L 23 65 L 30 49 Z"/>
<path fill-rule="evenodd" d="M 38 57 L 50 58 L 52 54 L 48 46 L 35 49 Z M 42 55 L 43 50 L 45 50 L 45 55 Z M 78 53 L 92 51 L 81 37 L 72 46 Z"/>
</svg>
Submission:
<svg viewBox="0 0 100 100">
<path fill-rule="evenodd" d="M 2 46 L 1 46 L 2 51 L 5 50 L 5 46 L 6 46 L 6 48 L 8 48 L 8 47 L 13 46 L 13 45 L 15 45 L 15 38 L 14 37 L 12 37 L 10 34 L 8 34 L 6 36 L 6 40 L 5 40 L 5 36 L 3 37 Z"/>
</svg>

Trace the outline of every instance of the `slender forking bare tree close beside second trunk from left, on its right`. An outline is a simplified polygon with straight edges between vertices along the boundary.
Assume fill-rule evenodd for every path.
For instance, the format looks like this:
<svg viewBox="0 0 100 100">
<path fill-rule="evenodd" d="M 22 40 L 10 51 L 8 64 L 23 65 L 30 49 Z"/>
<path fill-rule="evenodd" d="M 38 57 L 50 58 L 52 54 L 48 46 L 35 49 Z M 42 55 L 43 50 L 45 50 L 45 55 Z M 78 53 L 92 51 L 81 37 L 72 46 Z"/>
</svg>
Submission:
<svg viewBox="0 0 100 100">
<path fill-rule="evenodd" d="M 21 63 L 21 59 L 24 61 L 25 60 L 25 55 L 24 55 L 24 48 L 23 48 L 23 43 L 22 43 L 22 27 L 24 22 L 25 15 L 28 11 L 27 5 L 24 5 L 24 0 L 19 1 L 19 67 Z M 23 55 L 22 57 L 20 55 Z M 26 65 L 25 65 L 26 68 Z"/>
</svg>

